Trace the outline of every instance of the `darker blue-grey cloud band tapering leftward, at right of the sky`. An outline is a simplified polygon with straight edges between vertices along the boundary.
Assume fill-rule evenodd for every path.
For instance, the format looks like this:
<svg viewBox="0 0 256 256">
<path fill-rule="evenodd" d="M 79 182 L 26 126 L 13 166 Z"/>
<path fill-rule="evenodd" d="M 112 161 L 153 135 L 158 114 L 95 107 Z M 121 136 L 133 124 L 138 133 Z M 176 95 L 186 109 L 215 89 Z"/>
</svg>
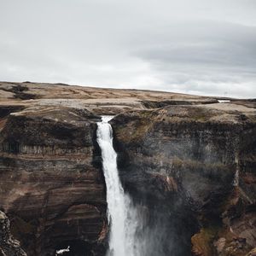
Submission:
<svg viewBox="0 0 256 256">
<path fill-rule="evenodd" d="M 183 38 L 172 38 L 172 30 L 166 30 L 170 37 L 159 36 L 146 49 L 140 49 L 136 54 L 150 60 L 161 60 L 175 63 L 202 63 L 222 66 L 256 67 L 256 27 L 233 24 L 194 24 L 197 29 L 191 35 Z M 218 28 L 221 26 L 221 28 Z M 183 30 L 183 27 L 179 27 Z"/>
</svg>

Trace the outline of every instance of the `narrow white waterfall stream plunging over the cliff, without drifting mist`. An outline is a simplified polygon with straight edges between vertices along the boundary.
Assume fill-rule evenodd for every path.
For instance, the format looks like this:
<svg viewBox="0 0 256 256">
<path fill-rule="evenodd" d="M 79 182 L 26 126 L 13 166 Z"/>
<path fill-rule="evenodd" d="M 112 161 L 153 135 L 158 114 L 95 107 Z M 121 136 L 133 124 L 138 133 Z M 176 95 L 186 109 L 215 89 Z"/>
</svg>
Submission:
<svg viewBox="0 0 256 256">
<path fill-rule="evenodd" d="M 120 183 L 117 154 L 113 148 L 113 131 L 108 124 L 110 119 L 112 117 L 103 116 L 102 122 L 97 123 L 97 143 L 102 149 L 102 168 L 107 186 L 108 223 L 110 224 L 107 255 L 142 255 L 136 241 L 137 212 Z"/>
</svg>

